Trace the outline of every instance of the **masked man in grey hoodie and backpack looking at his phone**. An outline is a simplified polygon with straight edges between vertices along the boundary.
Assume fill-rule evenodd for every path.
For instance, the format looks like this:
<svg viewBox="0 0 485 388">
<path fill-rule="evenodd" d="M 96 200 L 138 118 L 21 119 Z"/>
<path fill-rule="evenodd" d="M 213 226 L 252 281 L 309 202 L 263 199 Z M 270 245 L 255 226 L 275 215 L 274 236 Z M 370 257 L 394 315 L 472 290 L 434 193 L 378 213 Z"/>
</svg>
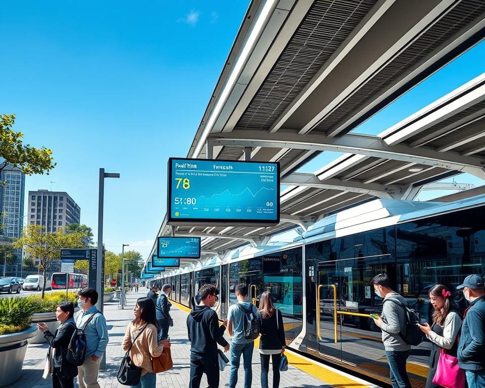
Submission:
<svg viewBox="0 0 485 388">
<path fill-rule="evenodd" d="M 393 388 L 411 388 L 406 372 L 406 360 L 411 346 L 404 339 L 407 329 L 406 300 L 393 291 L 391 280 L 386 274 L 378 274 L 371 283 L 377 297 L 384 300 L 381 316 L 372 319 L 382 330 L 382 343 L 389 363 L 391 383 Z"/>
</svg>

